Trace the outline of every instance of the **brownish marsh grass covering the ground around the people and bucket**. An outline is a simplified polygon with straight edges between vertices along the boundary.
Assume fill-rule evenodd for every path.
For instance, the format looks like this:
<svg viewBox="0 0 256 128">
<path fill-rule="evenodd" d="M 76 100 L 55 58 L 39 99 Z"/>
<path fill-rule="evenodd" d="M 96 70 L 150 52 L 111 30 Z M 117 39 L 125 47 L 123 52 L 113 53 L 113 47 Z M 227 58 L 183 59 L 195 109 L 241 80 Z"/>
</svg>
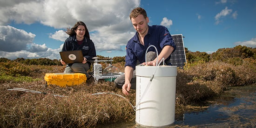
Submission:
<svg viewBox="0 0 256 128">
<path fill-rule="evenodd" d="M 200 103 L 221 94 L 230 86 L 245 86 L 256 82 L 256 62 L 244 60 L 241 66 L 224 62 L 200 63 L 195 66 L 178 69 L 176 81 L 175 113 L 188 109 L 207 108 Z M 1 62 L 3 63 L 3 62 Z M 15 63 L 16 64 L 16 63 Z M 253 66 L 254 65 L 254 66 Z M 113 64 L 123 72 L 124 63 Z M 1 65 L 0 77 L 0 127 L 19 128 L 74 128 L 94 127 L 97 124 L 108 124 L 120 121 L 134 121 L 135 111 L 129 102 L 135 106 L 135 90 L 124 95 L 121 89 L 115 88 L 113 82 L 93 78 L 81 85 L 61 88 L 55 85 L 46 87 L 46 73 L 63 72 L 63 66 L 27 66 L 21 68 Z M 107 65 L 105 66 L 107 67 Z M 104 67 L 103 67 L 104 68 Z M 31 81 L 15 81 L 13 73 L 27 73 Z M 8 81 L 4 78 L 12 76 Z M 20 80 L 20 75 L 15 75 Z M 10 88 L 26 88 L 44 92 L 36 94 L 21 91 L 8 91 Z M 96 93 L 113 94 L 96 94 Z M 54 94 L 61 95 L 54 96 Z M 96 94 L 96 95 L 92 95 Z M 122 98 L 118 95 L 124 96 Z"/>
</svg>

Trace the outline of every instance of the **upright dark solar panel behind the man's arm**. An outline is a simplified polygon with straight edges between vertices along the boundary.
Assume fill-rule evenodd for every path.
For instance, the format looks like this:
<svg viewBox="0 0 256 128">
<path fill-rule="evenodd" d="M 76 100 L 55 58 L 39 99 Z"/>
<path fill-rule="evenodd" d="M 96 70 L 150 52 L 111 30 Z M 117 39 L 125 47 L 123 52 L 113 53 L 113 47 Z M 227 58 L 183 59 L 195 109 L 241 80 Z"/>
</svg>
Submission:
<svg viewBox="0 0 256 128">
<path fill-rule="evenodd" d="M 183 36 L 182 34 L 173 34 L 172 38 L 176 45 L 176 50 L 171 54 L 171 58 L 169 61 L 172 63 L 173 66 L 183 68 L 185 63 L 187 63 Z"/>
</svg>

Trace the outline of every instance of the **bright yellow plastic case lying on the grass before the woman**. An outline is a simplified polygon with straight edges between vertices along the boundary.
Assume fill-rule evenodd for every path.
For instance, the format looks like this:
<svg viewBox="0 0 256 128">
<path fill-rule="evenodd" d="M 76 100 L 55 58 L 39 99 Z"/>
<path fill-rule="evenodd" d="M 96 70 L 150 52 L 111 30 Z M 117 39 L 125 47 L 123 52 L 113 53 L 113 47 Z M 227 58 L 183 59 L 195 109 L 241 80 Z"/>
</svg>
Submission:
<svg viewBox="0 0 256 128">
<path fill-rule="evenodd" d="M 66 87 L 85 83 L 87 77 L 82 73 L 51 73 L 45 74 L 44 79 L 47 81 L 47 85 Z"/>
</svg>

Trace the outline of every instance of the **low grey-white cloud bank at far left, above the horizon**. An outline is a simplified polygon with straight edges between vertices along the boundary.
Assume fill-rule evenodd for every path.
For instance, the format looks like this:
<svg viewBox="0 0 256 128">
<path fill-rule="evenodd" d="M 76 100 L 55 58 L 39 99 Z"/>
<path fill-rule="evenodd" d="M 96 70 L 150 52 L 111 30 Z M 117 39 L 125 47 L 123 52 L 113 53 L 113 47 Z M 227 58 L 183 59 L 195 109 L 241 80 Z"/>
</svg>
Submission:
<svg viewBox="0 0 256 128">
<path fill-rule="evenodd" d="M 51 49 L 46 44 L 35 44 L 34 37 L 35 34 L 15 27 L 0 26 L 0 58 L 60 58 L 61 48 Z"/>
</svg>

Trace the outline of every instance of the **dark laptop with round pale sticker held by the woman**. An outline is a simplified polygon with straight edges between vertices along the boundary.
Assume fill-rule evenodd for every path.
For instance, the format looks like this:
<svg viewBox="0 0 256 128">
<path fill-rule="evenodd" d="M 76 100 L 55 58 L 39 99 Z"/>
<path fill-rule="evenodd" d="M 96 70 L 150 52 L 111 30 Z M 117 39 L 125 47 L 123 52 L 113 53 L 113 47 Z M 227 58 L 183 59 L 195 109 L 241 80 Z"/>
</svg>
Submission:
<svg viewBox="0 0 256 128">
<path fill-rule="evenodd" d="M 62 51 L 61 59 L 67 64 L 81 63 L 84 60 L 82 50 Z"/>
</svg>

